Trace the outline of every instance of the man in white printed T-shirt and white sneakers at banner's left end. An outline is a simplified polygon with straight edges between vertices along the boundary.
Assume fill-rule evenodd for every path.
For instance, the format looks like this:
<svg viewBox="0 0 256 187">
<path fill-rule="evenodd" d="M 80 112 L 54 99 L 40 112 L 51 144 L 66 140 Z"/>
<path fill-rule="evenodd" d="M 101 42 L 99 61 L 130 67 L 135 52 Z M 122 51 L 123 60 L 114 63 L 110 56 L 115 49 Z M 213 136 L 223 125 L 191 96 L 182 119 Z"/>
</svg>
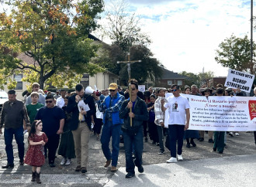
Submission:
<svg viewBox="0 0 256 187">
<path fill-rule="evenodd" d="M 166 162 L 177 162 L 176 141 L 178 141 L 178 160 L 182 161 L 182 146 L 184 132 L 189 128 L 189 101 L 186 97 L 180 95 L 181 90 L 177 84 L 171 86 L 173 96 L 168 97 L 167 103 L 161 100 L 161 109 L 164 112 L 168 108 L 168 129 L 171 149 L 171 158 Z"/>
</svg>

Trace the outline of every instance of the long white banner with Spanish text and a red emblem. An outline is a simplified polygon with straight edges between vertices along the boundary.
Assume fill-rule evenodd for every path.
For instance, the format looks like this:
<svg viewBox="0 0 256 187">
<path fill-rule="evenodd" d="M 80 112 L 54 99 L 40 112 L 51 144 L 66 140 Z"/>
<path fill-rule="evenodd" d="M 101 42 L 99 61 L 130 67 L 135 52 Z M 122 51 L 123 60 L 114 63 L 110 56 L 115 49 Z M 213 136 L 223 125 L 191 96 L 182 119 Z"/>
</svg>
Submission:
<svg viewBox="0 0 256 187">
<path fill-rule="evenodd" d="M 182 95 L 189 100 L 191 130 L 256 131 L 256 97 Z"/>
</svg>

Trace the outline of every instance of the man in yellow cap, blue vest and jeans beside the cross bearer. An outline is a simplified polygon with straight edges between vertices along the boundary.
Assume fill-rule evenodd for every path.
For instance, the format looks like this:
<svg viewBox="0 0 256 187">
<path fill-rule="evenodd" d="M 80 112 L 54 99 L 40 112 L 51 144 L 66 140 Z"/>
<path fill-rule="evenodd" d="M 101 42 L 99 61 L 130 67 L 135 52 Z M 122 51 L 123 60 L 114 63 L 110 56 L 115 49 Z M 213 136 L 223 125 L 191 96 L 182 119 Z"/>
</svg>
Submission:
<svg viewBox="0 0 256 187">
<path fill-rule="evenodd" d="M 123 104 L 124 97 L 118 93 L 118 86 L 116 83 L 109 84 L 110 95 L 101 102 L 98 98 L 99 110 L 104 113 L 103 128 L 102 128 L 102 151 L 106 157 L 106 164 L 108 167 L 112 160 L 111 172 L 116 172 L 117 160 L 119 155 L 120 131 L 123 120 L 119 118 L 119 110 Z M 109 141 L 112 137 L 112 154 L 109 149 Z"/>
</svg>

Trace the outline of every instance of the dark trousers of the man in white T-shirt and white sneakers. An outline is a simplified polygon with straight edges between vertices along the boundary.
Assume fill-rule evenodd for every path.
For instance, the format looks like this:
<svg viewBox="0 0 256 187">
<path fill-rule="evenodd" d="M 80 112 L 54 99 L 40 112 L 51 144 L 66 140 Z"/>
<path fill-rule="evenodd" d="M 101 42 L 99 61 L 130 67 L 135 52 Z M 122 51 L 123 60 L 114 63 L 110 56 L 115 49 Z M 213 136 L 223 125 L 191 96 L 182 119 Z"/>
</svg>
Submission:
<svg viewBox="0 0 256 187">
<path fill-rule="evenodd" d="M 171 157 L 176 158 L 176 141 L 178 141 L 178 155 L 182 155 L 184 127 L 184 125 L 179 124 L 168 125 Z"/>
</svg>

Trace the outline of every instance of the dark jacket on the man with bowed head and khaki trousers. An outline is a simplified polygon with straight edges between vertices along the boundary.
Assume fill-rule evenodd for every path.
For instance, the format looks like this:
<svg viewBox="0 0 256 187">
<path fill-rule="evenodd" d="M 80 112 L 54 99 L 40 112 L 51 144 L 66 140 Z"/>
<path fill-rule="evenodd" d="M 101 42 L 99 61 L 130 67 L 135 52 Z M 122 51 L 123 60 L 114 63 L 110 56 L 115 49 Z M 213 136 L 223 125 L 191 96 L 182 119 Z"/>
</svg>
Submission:
<svg viewBox="0 0 256 187">
<path fill-rule="evenodd" d="M 78 128 L 79 124 L 79 110 L 78 110 L 78 103 L 75 101 L 75 96 L 69 97 L 68 103 L 67 103 L 67 112 L 72 113 L 71 121 L 70 121 L 70 129 L 71 131 L 74 131 Z M 84 97 L 85 104 L 88 104 L 90 110 L 87 111 L 87 114 L 85 115 L 85 121 L 88 124 L 88 128 L 91 130 L 91 124 L 92 124 L 92 118 L 95 117 L 96 108 L 95 108 L 95 102 L 93 100 L 93 97 L 91 95 L 85 95 Z"/>
</svg>

